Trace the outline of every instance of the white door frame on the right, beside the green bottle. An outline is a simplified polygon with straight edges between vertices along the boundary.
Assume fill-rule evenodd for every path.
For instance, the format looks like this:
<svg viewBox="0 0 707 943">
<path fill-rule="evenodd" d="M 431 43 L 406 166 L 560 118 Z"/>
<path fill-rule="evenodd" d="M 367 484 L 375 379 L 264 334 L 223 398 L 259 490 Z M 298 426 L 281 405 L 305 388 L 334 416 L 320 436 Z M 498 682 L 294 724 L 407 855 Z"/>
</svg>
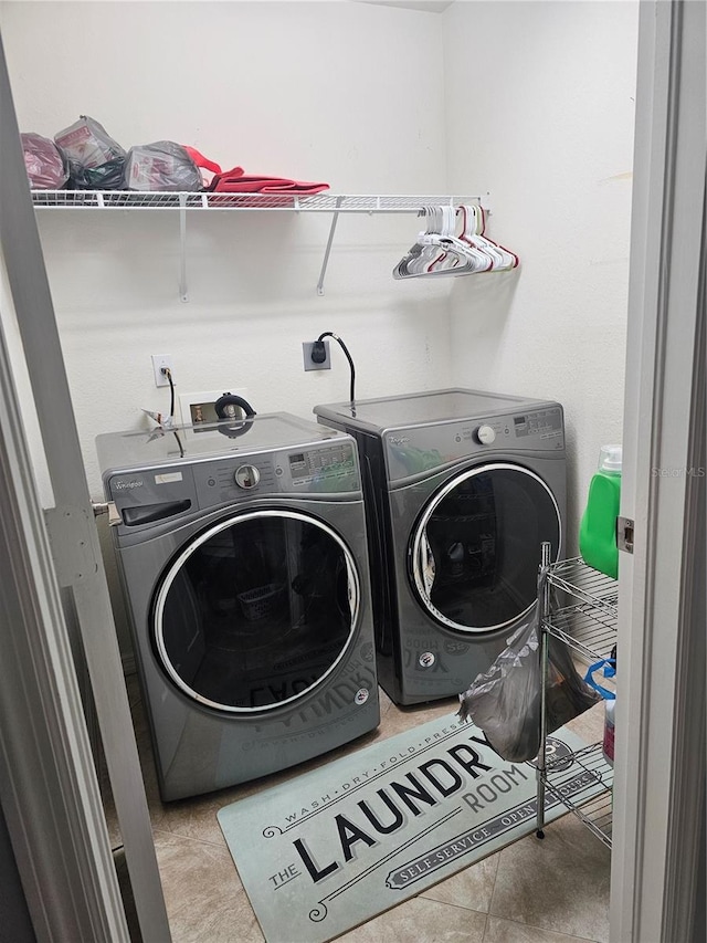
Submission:
<svg viewBox="0 0 707 943">
<path fill-rule="evenodd" d="M 704 2 L 641 2 L 612 943 L 704 940 L 706 32 Z"/>
</svg>

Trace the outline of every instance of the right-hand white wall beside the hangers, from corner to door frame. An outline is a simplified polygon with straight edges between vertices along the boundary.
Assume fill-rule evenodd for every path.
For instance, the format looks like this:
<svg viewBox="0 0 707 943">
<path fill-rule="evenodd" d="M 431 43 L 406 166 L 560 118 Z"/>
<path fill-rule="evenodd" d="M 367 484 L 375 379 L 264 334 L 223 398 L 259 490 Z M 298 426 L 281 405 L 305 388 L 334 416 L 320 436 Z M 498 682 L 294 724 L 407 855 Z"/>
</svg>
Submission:
<svg viewBox="0 0 707 943">
<path fill-rule="evenodd" d="M 490 190 L 511 274 L 457 279 L 463 386 L 557 399 L 569 553 L 599 447 L 620 442 L 637 2 L 456 2 L 444 14 L 449 185 Z"/>
</svg>

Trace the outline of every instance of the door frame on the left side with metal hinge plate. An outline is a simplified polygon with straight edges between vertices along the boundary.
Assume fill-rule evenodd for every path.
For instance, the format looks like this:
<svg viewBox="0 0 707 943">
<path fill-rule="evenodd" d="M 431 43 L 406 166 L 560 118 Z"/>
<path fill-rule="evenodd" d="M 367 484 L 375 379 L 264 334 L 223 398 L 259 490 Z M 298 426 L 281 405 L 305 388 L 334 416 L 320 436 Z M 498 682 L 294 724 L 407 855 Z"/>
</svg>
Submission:
<svg viewBox="0 0 707 943">
<path fill-rule="evenodd" d="M 3 696 L 17 695 L 0 719 L 0 768 L 7 774 L 0 777 L 0 798 L 38 939 L 127 941 L 88 705 L 80 693 L 85 667 L 141 935 L 169 943 L 98 532 L 1 40 L 0 167 L 0 553 L 8 565 L 3 573 L 12 574 L 2 581 L 0 611 L 13 628 L 2 632 L 0 688 Z M 6 326 L 18 339 L 12 354 Z M 31 388 L 22 404 L 15 371 Z M 29 413 L 40 436 L 32 452 Z M 44 510 L 35 479 L 42 462 L 55 504 Z M 78 639 L 70 638 L 62 594 L 76 615 Z M 23 738 L 25 731 L 32 735 Z"/>
</svg>

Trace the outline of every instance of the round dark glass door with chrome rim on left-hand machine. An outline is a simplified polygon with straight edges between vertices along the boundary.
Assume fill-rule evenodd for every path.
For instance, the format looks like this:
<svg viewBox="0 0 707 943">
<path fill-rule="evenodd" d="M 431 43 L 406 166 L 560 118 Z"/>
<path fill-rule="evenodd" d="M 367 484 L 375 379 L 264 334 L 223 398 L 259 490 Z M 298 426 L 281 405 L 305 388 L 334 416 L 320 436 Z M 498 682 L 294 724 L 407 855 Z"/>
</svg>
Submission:
<svg viewBox="0 0 707 943">
<path fill-rule="evenodd" d="M 357 625 L 351 553 L 306 514 L 230 517 L 186 546 L 155 597 L 158 657 L 189 696 L 221 711 L 277 708 L 318 685 Z"/>
</svg>

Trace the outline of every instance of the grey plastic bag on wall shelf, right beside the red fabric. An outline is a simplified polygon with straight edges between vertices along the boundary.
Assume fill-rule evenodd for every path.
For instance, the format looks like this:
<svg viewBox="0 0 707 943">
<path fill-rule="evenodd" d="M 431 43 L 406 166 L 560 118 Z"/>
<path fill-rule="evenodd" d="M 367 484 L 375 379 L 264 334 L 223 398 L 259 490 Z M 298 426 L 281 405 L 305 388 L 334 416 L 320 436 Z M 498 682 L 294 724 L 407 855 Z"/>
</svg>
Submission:
<svg viewBox="0 0 707 943">
<path fill-rule="evenodd" d="M 144 192 L 198 192 L 204 188 L 197 166 L 201 161 L 208 169 L 221 169 L 198 150 L 173 140 L 131 147 L 125 161 L 124 188 Z"/>
</svg>

